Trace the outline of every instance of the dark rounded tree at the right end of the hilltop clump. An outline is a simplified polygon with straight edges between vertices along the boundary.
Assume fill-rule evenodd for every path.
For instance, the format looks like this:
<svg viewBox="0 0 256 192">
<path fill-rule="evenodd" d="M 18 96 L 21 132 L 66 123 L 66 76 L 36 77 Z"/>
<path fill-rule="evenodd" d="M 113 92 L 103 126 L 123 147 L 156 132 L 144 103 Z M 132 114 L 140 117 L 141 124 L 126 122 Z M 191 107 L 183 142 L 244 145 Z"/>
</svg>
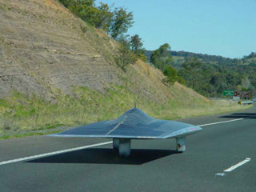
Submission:
<svg viewBox="0 0 256 192">
<path fill-rule="evenodd" d="M 134 24 L 133 12 L 126 12 L 126 9 L 119 7 L 114 9 L 114 18 L 110 26 L 110 35 L 112 38 L 117 39 L 125 34 L 128 29 Z"/>
</svg>

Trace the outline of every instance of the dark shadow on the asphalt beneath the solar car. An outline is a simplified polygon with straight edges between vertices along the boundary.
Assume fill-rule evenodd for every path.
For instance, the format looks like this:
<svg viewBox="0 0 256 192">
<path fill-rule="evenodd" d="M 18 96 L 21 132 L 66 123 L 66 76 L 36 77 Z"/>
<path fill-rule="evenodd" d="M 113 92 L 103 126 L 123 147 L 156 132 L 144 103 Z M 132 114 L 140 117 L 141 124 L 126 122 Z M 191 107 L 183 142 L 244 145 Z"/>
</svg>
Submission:
<svg viewBox="0 0 256 192">
<path fill-rule="evenodd" d="M 142 165 L 146 162 L 164 158 L 171 154 L 179 154 L 177 150 L 131 150 L 127 158 L 118 155 L 117 150 L 113 149 L 86 149 L 55 154 L 45 158 L 37 158 L 26 161 L 33 163 L 93 163 L 93 164 L 123 164 L 123 165 Z"/>
</svg>

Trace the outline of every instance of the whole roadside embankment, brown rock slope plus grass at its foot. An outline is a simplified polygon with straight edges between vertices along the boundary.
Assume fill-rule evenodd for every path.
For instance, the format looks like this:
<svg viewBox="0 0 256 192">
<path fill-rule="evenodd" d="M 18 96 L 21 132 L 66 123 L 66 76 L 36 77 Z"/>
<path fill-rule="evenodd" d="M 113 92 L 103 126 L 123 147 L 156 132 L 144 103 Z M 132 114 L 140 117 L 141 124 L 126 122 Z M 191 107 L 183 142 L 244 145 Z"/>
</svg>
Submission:
<svg viewBox="0 0 256 192">
<path fill-rule="evenodd" d="M 238 108 L 166 86 L 139 60 L 124 73 L 117 42 L 54 0 L 1 1 L 0 43 L 0 138 L 114 118 L 134 102 L 157 118 Z"/>
</svg>

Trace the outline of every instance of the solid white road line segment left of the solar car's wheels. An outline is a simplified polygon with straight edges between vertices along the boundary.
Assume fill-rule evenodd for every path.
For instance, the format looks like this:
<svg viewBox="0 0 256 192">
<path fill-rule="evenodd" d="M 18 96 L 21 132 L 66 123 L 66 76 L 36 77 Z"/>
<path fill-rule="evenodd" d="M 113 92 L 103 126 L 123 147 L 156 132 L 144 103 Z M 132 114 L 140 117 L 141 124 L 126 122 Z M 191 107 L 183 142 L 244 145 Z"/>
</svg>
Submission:
<svg viewBox="0 0 256 192">
<path fill-rule="evenodd" d="M 43 157 L 53 155 L 53 154 L 62 154 L 62 153 L 71 152 L 71 151 L 74 151 L 74 150 L 83 150 L 83 149 L 87 149 L 87 148 L 94 147 L 94 146 L 103 146 L 103 145 L 107 145 L 107 144 L 110 144 L 110 143 L 112 143 L 112 142 L 101 142 L 101 143 L 96 143 L 96 144 L 93 144 L 93 145 L 90 145 L 90 146 L 79 146 L 79 147 L 75 147 L 75 148 L 72 148 L 72 149 L 58 150 L 58 151 L 50 152 L 50 153 L 47 153 L 47 154 L 38 154 L 38 155 L 33 155 L 33 156 L 30 156 L 30 157 L 25 157 L 25 158 L 16 158 L 14 160 L 9 160 L 9 161 L 6 161 L 6 162 L 0 162 L 0 166 L 6 165 L 6 164 L 9 164 L 9 163 L 12 163 L 12 162 L 22 162 L 22 161 L 26 161 L 26 160 L 31 160 L 33 158 L 43 158 Z"/>
</svg>

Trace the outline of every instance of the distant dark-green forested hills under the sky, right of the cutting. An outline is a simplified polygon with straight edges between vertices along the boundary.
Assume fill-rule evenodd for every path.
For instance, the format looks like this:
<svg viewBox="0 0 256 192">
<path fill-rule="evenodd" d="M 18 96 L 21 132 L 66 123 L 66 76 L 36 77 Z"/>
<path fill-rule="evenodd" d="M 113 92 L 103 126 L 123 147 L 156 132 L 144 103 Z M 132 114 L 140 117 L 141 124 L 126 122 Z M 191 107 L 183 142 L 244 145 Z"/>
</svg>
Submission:
<svg viewBox="0 0 256 192">
<path fill-rule="evenodd" d="M 182 84 L 186 84 L 199 94 L 218 98 L 223 97 L 223 90 L 250 91 L 250 96 L 256 94 L 256 54 L 254 52 L 241 59 L 231 59 L 168 49 L 165 58 L 168 58 L 169 62 L 166 62 L 166 66 L 163 67 L 159 66 L 154 59 L 156 52 L 159 52 L 162 46 L 158 50 L 146 51 L 147 60 L 162 72 L 167 66 L 174 69 L 172 75 L 178 75 L 180 78 L 178 82 L 182 81 Z"/>
</svg>

